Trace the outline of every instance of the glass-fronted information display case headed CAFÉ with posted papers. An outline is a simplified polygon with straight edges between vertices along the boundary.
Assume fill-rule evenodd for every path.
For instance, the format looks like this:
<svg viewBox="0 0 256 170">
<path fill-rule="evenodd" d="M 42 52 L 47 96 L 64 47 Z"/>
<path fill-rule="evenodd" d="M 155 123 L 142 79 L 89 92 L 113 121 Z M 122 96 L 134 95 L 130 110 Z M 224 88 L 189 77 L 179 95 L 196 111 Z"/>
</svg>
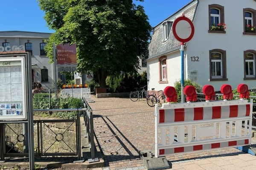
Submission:
<svg viewBox="0 0 256 170">
<path fill-rule="evenodd" d="M 27 119 L 25 57 L 0 58 L 0 120 Z"/>
</svg>

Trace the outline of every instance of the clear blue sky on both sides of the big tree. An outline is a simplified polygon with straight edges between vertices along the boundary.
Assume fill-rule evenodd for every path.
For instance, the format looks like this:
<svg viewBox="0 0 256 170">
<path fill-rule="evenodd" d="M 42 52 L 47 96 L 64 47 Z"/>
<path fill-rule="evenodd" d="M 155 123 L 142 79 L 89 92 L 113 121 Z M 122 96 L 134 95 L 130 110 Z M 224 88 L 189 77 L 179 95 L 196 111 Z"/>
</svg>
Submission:
<svg viewBox="0 0 256 170">
<path fill-rule="evenodd" d="M 0 31 L 32 31 L 53 33 L 44 20 L 44 11 L 38 6 L 37 0 L 0 0 Z M 134 0 L 137 5 L 144 6 L 152 27 L 157 26 L 167 17 L 192 0 L 144 0 L 143 3 Z"/>
</svg>

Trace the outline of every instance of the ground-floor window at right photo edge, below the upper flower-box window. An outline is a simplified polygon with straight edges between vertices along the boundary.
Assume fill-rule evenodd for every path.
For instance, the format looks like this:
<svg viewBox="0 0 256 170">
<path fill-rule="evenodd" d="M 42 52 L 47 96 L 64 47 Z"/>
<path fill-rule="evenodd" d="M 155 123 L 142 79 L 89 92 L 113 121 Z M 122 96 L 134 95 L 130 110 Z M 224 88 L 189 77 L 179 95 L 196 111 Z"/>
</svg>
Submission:
<svg viewBox="0 0 256 170">
<path fill-rule="evenodd" d="M 255 50 L 244 51 L 244 80 L 256 79 Z"/>
</svg>

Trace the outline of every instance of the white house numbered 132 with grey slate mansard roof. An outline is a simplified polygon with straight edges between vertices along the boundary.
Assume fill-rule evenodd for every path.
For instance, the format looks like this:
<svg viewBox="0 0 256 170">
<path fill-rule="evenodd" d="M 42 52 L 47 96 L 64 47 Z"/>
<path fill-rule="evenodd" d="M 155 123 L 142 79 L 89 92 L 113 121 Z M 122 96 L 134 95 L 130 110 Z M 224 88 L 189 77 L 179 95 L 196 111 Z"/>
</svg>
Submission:
<svg viewBox="0 0 256 170">
<path fill-rule="evenodd" d="M 147 59 L 148 90 L 163 90 L 181 79 L 180 42 L 172 23 L 184 14 L 195 34 L 184 48 L 184 79 L 202 85 L 256 87 L 256 0 L 192 0 L 154 27 Z M 211 30 L 212 24 L 226 24 Z M 250 25 L 250 30 L 247 30 Z M 253 30 L 253 31 L 252 31 Z"/>
</svg>

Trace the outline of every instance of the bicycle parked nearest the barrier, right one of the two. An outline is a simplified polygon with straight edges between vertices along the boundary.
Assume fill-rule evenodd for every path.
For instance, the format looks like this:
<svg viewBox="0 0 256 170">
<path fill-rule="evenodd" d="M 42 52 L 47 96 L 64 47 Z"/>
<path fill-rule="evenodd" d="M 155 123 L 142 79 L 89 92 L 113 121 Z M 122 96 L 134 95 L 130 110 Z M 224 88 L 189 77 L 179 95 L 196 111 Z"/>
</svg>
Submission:
<svg viewBox="0 0 256 170">
<path fill-rule="evenodd" d="M 165 94 L 163 94 L 163 91 L 158 91 L 157 94 L 154 91 L 154 88 L 151 88 L 151 90 L 153 91 L 153 94 L 149 95 L 147 98 L 147 103 L 150 107 L 154 107 L 157 103 L 159 106 L 162 105 L 162 103 L 160 101 L 163 100 L 163 103 L 166 102 L 166 96 Z M 159 94 L 159 92 L 161 92 L 161 94 Z"/>
</svg>

